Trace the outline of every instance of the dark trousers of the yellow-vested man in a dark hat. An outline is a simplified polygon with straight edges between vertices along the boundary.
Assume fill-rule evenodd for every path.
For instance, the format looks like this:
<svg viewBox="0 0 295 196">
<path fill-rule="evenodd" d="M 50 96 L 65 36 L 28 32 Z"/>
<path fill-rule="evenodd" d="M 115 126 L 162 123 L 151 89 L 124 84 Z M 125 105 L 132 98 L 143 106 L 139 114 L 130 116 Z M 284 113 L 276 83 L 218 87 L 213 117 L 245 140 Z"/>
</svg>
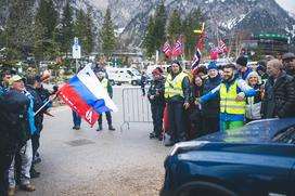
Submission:
<svg viewBox="0 0 295 196">
<path fill-rule="evenodd" d="M 183 103 L 168 104 L 168 129 L 172 142 L 185 141 L 185 117 Z"/>
</svg>

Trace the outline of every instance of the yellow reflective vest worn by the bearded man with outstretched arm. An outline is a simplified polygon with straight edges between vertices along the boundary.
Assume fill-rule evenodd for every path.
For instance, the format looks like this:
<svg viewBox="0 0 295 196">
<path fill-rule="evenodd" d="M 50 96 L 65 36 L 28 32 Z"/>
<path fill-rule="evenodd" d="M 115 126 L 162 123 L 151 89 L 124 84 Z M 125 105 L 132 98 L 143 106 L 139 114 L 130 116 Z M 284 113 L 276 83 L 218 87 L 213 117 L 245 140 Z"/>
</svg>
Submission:
<svg viewBox="0 0 295 196">
<path fill-rule="evenodd" d="M 235 97 L 238 95 L 236 93 L 238 82 L 234 81 L 234 83 L 229 88 L 229 91 L 227 91 L 227 86 L 225 83 L 221 83 L 220 86 L 220 112 L 232 114 L 232 115 L 245 115 L 245 106 L 246 101 L 243 100 L 241 102 L 236 102 Z"/>
</svg>

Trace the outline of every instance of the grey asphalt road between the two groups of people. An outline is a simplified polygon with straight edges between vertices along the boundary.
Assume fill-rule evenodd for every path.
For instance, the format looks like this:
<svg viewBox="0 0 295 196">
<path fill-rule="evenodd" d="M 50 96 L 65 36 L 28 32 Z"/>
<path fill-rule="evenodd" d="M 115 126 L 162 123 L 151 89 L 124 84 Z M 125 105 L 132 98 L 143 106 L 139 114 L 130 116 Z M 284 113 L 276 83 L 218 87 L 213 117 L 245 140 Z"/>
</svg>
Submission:
<svg viewBox="0 0 295 196">
<path fill-rule="evenodd" d="M 116 131 L 106 129 L 105 116 L 103 131 L 97 132 L 97 125 L 90 128 L 85 121 L 81 130 L 73 130 L 69 107 L 53 108 L 54 117 L 44 118 L 41 133 L 42 161 L 36 166 L 41 175 L 31 180 L 36 191 L 17 190 L 17 196 L 158 195 L 164 180 L 163 162 L 170 148 L 149 139 L 151 122 L 119 129 L 124 122 L 124 88 L 114 88 L 114 102 L 119 108 L 113 114 Z M 140 91 L 130 96 L 136 96 L 132 102 L 146 101 Z"/>
</svg>

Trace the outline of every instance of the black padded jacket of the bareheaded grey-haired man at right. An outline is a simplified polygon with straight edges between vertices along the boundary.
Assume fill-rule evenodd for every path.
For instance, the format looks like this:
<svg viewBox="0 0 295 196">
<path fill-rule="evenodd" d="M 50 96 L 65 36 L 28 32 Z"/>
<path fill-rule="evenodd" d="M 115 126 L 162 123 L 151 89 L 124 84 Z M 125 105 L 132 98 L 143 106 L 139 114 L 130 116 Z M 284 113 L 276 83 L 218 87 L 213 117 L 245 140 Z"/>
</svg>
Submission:
<svg viewBox="0 0 295 196">
<path fill-rule="evenodd" d="M 262 118 L 295 116 L 294 78 L 283 70 L 274 82 L 269 78 L 265 86 L 265 99 L 261 106 Z"/>
</svg>

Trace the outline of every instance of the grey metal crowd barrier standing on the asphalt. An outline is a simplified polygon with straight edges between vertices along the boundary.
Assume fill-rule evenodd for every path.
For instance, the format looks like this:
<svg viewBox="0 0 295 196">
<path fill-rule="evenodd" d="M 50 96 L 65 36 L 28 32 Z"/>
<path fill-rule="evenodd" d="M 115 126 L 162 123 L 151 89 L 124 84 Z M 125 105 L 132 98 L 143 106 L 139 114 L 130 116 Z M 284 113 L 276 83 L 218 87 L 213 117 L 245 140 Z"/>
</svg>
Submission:
<svg viewBox="0 0 295 196">
<path fill-rule="evenodd" d="M 145 88 L 145 96 L 142 96 L 140 87 L 125 88 L 121 92 L 123 99 L 123 127 L 130 122 L 153 122 L 151 105 L 146 96 L 148 89 Z"/>
</svg>

